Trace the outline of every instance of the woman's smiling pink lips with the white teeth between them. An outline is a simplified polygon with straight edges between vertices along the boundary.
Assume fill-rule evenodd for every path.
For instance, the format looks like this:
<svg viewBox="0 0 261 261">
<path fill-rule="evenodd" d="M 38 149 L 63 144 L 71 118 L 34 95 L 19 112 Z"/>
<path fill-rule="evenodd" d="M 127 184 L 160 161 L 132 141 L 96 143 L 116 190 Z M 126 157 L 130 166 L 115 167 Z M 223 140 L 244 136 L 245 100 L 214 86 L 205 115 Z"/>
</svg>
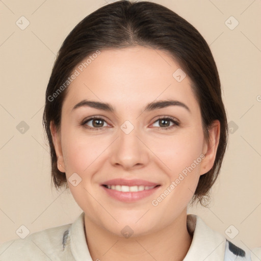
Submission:
<svg viewBox="0 0 261 261">
<path fill-rule="evenodd" d="M 160 184 L 142 179 L 111 179 L 101 186 L 109 196 L 123 202 L 134 202 L 154 193 Z"/>
</svg>

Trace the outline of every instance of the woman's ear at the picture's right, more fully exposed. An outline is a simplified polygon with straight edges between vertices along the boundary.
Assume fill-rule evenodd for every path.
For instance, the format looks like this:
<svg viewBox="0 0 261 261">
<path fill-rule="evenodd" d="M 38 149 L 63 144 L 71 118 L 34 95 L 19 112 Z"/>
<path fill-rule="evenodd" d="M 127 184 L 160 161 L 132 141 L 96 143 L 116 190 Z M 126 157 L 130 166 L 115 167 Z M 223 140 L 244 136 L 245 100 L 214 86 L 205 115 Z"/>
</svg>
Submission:
<svg viewBox="0 0 261 261">
<path fill-rule="evenodd" d="M 219 120 L 213 121 L 211 128 L 208 129 L 208 135 L 209 139 L 205 140 L 203 145 L 202 153 L 204 154 L 204 159 L 201 161 L 200 175 L 210 171 L 214 165 L 220 137 Z"/>
</svg>

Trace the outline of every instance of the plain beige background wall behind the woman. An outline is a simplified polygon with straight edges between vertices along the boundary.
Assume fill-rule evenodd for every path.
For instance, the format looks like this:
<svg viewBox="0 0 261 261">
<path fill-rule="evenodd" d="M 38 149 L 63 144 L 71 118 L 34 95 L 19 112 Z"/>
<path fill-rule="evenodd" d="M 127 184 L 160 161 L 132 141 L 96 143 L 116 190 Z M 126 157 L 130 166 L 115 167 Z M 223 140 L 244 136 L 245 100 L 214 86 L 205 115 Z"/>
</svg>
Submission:
<svg viewBox="0 0 261 261">
<path fill-rule="evenodd" d="M 239 230 L 231 240 L 238 245 L 261 246 L 261 1 L 154 2 L 187 19 L 210 44 L 228 121 L 234 122 L 230 127 L 238 126 L 230 129 L 210 207 L 194 207 L 189 213 L 200 215 L 228 239 L 225 230 L 233 225 L 228 231 Z M 64 38 L 82 18 L 105 4 L 103 0 L 0 1 L 0 243 L 18 238 L 21 225 L 33 233 L 71 223 L 82 212 L 70 192 L 50 187 L 42 128 L 44 94 Z M 21 16 L 30 21 L 24 30 L 16 25 Z M 239 21 L 233 30 L 225 24 L 230 16 Z M 236 21 L 228 22 L 231 27 Z M 16 128 L 21 121 L 30 127 L 24 134 Z"/>
</svg>

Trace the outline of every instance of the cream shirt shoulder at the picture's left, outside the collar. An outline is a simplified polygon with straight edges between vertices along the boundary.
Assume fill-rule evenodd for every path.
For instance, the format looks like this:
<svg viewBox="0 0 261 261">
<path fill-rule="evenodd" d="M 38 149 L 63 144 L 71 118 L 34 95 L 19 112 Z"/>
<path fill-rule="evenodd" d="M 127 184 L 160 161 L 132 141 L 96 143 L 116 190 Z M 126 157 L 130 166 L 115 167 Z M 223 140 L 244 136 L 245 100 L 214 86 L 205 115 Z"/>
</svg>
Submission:
<svg viewBox="0 0 261 261">
<path fill-rule="evenodd" d="M 71 224 L 48 228 L 30 234 L 25 239 L 15 239 L 0 245 L 1 261 L 46 260 L 64 254 L 63 243 L 68 237 Z M 63 242 L 64 241 L 64 242 Z"/>
</svg>

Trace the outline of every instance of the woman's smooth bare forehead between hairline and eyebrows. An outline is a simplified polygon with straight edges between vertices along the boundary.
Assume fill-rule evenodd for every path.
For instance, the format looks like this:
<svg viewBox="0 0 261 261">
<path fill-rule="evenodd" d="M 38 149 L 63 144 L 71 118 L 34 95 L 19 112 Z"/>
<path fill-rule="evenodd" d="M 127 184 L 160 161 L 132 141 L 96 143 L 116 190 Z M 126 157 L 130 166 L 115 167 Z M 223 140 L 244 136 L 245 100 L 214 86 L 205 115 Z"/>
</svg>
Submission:
<svg viewBox="0 0 261 261">
<path fill-rule="evenodd" d="M 197 107 L 189 77 L 177 81 L 180 77 L 176 78 L 175 72 L 182 71 L 163 50 L 141 46 L 100 50 L 75 70 L 77 76 L 68 87 L 63 105 L 68 109 L 83 99 L 109 101 L 120 109 L 134 109 L 164 98 L 189 103 L 192 110 Z"/>
</svg>

